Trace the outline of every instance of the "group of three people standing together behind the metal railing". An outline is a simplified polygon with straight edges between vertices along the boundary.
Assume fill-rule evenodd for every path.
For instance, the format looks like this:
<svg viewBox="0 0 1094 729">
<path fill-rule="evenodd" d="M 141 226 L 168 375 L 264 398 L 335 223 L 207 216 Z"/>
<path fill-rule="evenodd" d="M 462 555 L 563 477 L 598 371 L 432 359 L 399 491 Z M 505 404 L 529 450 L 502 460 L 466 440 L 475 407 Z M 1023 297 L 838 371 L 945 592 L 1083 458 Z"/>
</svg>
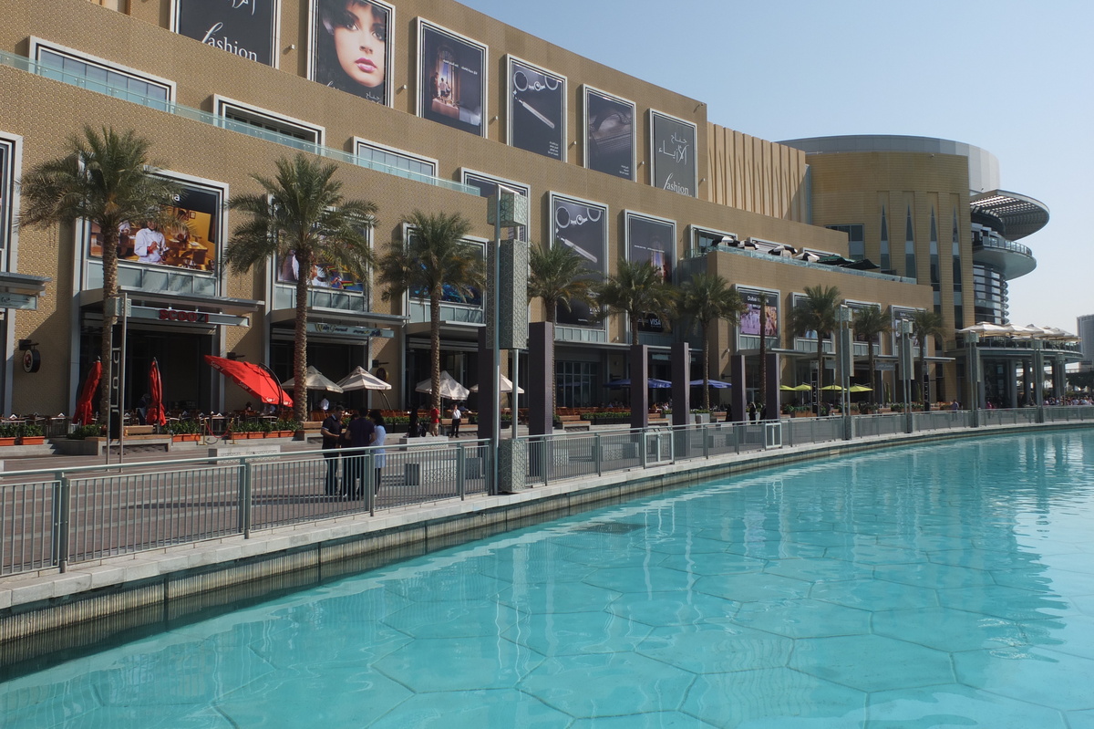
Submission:
<svg viewBox="0 0 1094 729">
<path fill-rule="evenodd" d="M 384 416 L 380 410 L 369 410 L 363 415 L 358 410 L 350 414 L 348 423 L 345 421 L 346 410 L 340 405 L 335 406 L 327 415 L 319 428 L 323 436 L 323 458 L 326 459 L 327 474 L 325 481 L 325 491 L 327 496 L 341 496 L 349 499 L 360 499 L 366 488 L 364 472 L 364 451 L 354 451 L 342 456 L 346 461 L 342 468 L 342 482 L 338 484 L 338 461 L 341 449 L 372 448 L 369 451 L 373 458 L 375 475 L 372 482 L 373 494 L 380 493 L 380 482 L 383 475 L 386 451 L 383 448 L 387 440 L 387 427 Z"/>
</svg>

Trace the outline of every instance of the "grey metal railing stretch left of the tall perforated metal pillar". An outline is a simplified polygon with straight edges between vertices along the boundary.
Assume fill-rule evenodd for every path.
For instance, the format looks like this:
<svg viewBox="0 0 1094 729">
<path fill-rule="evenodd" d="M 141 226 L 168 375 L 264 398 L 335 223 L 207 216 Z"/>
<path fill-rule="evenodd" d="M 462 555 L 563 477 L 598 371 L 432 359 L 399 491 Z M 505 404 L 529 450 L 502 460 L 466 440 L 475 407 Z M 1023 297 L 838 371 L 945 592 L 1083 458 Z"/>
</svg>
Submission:
<svg viewBox="0 0 1094 729">
<path fill-rule="evenodd" d="M 3 474 L 0 575 L 485 494 L 488 441 Z"/>
</svg>

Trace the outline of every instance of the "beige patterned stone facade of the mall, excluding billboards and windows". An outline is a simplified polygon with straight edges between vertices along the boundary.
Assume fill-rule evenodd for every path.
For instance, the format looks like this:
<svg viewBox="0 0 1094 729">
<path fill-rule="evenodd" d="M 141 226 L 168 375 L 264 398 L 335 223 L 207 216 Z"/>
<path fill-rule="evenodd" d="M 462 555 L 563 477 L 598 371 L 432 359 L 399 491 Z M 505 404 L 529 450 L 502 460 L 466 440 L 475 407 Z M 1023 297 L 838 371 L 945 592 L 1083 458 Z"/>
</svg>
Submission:
<svg viewBox="0 0 1094 729">
<path fill-rule="evenodd" d="M 699 100 L 593 62 L 455 2 L 399 0 L 393 3 L 394 22 L 387 39 L 392 56 L 386 80 L 391 106 L 326 88 L 309 78 L 309 48 L 313 35 L 309 0 L 277 3 L 276 67 L 173 32 L 174 3 L 171 0 L 114 3 L 121 5 L 117 10 L 112 10 L 109 2 L 105 4 L 101 7 L 88 0 L 49 3 L 8 0 L 5 20 L 0 24 L 0 50 L 26 58 L 44 43 L 93 65 L 163 80 L 170 82 L 172 101 L 184 108 L 115 99 L 101 90 L 79 88 L 71 78 L 44 78 L 34 69 L 18 68 L 14 61 L 0 65 L 0 93 L 7 100 L 0 109 L 0 140 L 8 140 L 18 149 L 19 169 L 12 170 L 14 178 L 33 165 L 63 153 L 66 140 L 83 125 L 113 126 L 136 129 L 152 140 L 153 154 L 170 175 L 214 190 L 222 202 L 235 194 L 258 192 L 251 175 L 270 175 L 274 161 L 295 150 L 290 143 L 222 128 L 210 123 L 209 117 L 189 118 L 194 115 L 186 113 L 186 109 L 198 109 L 212 115 L 217 112 L 218 100 L 226 99 L 275 117 L 322 128 L 322 146 L 346 154 L 354 153 L 354 140 L 366 140 L 435 162 L 435 177 L 442 182 L 461 182 L 464 172 L 473 171 L 526 186 L 531 197 L 527 238 L 537 244 L 548 242 L 554 235 L 552 195 L 603 206 L 607 211 L 603 257 L 608 270 L 613 269 L 610 262 L 627 255 L 628 213 L 674 224 L 672 257 L 674 264 L 678 264 L 674 267 L 683 275 L 691 270 L 684 261 L 697 245 L 700 230 L 846 256 L 847 235 L 823 225 L 845 222 L 863 222 L 868 228 L 877 225 L 876 210 L 882 202 L 892 210 L 889 229 L 894 252 L 903 253 L 904 209 L 910 206 L 917 231 L 929 225 L 929 211 L 936 211 L 940 251 L 946 256 L 951 222 L 956 211 L 962 231 L 962 255 L 971 255 L 967 173 L 963 172 L 959 158 L 924 164 L 920 157 L 907 155 L 907 159 L 893 158 L 885 164 L 871 166 L 861 160 L 840 160 L 833 155 L 813 163 L 811 173 L 802 151 L 720 127 L 708 120 L 707 107 Z M 480 69 L 485 104 L 478 121 L 485 127 L 485 136 L 439 124 L 419 114 L 422 91 L 418 70 L 420 19 L 451 33 L 457 40 L 464 38 L 486 47 L 486 62 Z M 509 115 L 513 108 L 508 83 L 510 57 L 565 79 L 562 159 L 550 159 L 509 143 Z M 589 143 L 586 88 L 633 102 L 633 180 L 585 167 Z M 694 126 L 695 149 L 690 154 L 695 160 L 695 196 L 659 189 L 651 184 L 661 151 L 651 142 L 651 109 Z M 380 221 L 373 232 L 377 250 L 401 241 L 401 221 L 416 209 L 458 211 L 474 222 L 476 240 L 485 242 L 493 235 L 492 227 L 487 223 L 486 200 L 474 194 L 475 190 L 452 189 L 451 185 L 427 184 L 350 161 L 336 161 L 338 178 L 345 183 L 347 197 L 369 199 L 379 207 Z M 811 175 L 812 200 L 806 185 Z M 846 186 L 843 181 L 860 177 L 861 182 L 862 175 L 877 177 L 876 184 L 870 187 L 889 190 L 885 194 L 887 197 L 845 194 L 845 187 L 850 185 Z M 11 196 L 9 200 L 12 212 L 18 216 L 18 197 Z M 240 222 L 230 212 L 222 211 L 222 215 L 218 246 L 229 244 L 231 230 Z M 88 253 L 80 225 L 48 230 L 27 228 L 8 231 L 5 235 L 10 242 L 7 269 L 46 277 L 50 281 L 36 310 L 8 312 L 3 323 L 9 361 L 7 394 L 0 405 L 4 414 L 70 413 L 83 372 L 96 354 L 94 331 L 98 304 L 94 297 L 94 275 L 89 273 L 94 268 L 94 256 Z M 866 255 L 874 258 L 875 254 L 868 248 Z M 201 354 L 232 351 L 245 356 L 247 361 L 269 361 L 279 375 L 288 378 L 284 360 L 287 306 L 283 292 L 279 294 L 274 282 L 274 263 L 246 276 L 231 276 L 219 268 L 205 271 L 212 277 L 201 279 L 202 286 L 212 286 L 213 292 L 210 294 L 205 289 L 205 293 L 183 297 L 177 302 L 170 286 L 149 280 L 151 275 L 147 266 L 133 262 L 125 265 L 141 281 L 140 290 L 133 294 L 140 305 L 245 315 L 249 321 L 247 326 L 187 327 L 163 321 L 135 323 L 130 342 L 138 360 L 132 367 L 139 371 L 144 361 L 140 358 L 158 357 L 161 368 L 166 370 L 168 403 L 217 410 L 238 407 L 246 400 L 244 393 L 224 385 L 220 375 L 212 374 L 201 363 Z M 778 293 L 781 323 L 776 348 L 787 355 L 783 378 L 788 382 L 807 374 L 804 368 L 808 364 L 808 343 L 795 340 L 787 332 L 785 324 L 794 294 L 800 294 L 806 286 L 836 286 L 847 299 L 876 303 L 883 310 L 933 304 L 930 286 L 893 276 L 861 275 L 737 252 L 707 254 L 705 265 L 738 286 Z M 916 271 L 920 281 L 929 280 L 927 266 L 928 256 L 920 255 Z M 950 276 L 947 267 L 943 269 L 943 277 Z M 963 277 L 965 290 L 971 291 L 970 265 Z M 952 289 L 948 286 L 943 291 L 952 292 Z M 951 294 L 942 294 L 943 311 L 951 312 L 946 324 L 959 326 L 962 322 L 954 320 L 952 299 L 947 296 Z M 315 347 L 310 357 L 336 380 L 354 364 L 375 369 L 372 360 L 379 360 L 395 386 L 387 402 L 393 407 L 417 402 L 410 391 L 424 361 L 420 332 L 426 320 L 421 310 L 421 305 L 407 300 L 384 301 L 379 290 L 372 291 L 364 311 L 358 308 L 340 313 L 337 309 L 322 308 L 315 312 L 316 321 L 392 329 L 394 336 L 373 339 L 369 348 L 360 337 L 316 336 L 310 340 Z M 467 321 L 452 321 L 446 325 L 444 363 L 459 370 L 458 375 L 469 385 L 477 377 L 473 344 L 477 321 L 474 311 L 467 316 Z M 532 316 L 533 321 L 544 317 L 538 302 L 533 302 Z M 965 323 L 969 321 L 966 316 Z M 583 397 L 591 401 L 589 404 L 613 398 L 617 393 L 605 391 L 603 383 L 620 373 L 625 358 L 622 347 L 629 338 L 625 323 L 613 320 L 605 326 L 586 327 L 587 331 L 573 326 L 562 328 L 557 359 L 579 363 L 575 371 L 582 372 L 580 377 L 592 378 L 592 389 L 583 391 L 586 393 Z M 693 335 L 679 327 L 675 333 L 653 334 L 647 340 L 655 351 L 666 351 L 668 344 L 680 337 L 698 344 Z M 12 364 L 18 355 L 15 342 L 24 338 L 38 343 L 42 352 L 42 369 L 33 374 Z M 712 346 L 719 352 L 718 357 L 712 357 L 712 377 L 725 372 L 729 354 L 753 351 L 747 342 L 725 324 L 719 327 Z M 892 357 L 889 344 L 882 345 L 882 354 Z M 862 368 L 864 364 L 860 364 Z M 656 375 L 657 370 L 651 373 Z M 173 386 L 177 389 L 172 391 Z M 141 390 L 139 382 L 129 385 L 127 405 L 133 404 Z M 374 402 L 383 405 L 379 400 Z"/>
</svg>

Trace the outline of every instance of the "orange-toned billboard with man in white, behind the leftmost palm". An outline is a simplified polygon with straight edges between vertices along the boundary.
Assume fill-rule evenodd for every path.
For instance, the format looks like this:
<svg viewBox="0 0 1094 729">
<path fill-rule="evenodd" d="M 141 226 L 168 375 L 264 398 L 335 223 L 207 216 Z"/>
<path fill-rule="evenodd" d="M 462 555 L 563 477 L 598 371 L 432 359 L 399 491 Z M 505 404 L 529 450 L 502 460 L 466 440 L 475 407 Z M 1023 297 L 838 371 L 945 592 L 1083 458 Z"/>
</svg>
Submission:
<svg viewBox="0 0 1094 729">
<path fill-rule="evenodd" d="M 175 205 L 167 208 L 172 224 L 130 220 L 118 229 L 118 261 L 190 270 L 216 271 L 220 245 L 223 192 L 183 183 Z M 98 225 L 92 223 L 89 253 L 103 255 Z"/>
</svg>

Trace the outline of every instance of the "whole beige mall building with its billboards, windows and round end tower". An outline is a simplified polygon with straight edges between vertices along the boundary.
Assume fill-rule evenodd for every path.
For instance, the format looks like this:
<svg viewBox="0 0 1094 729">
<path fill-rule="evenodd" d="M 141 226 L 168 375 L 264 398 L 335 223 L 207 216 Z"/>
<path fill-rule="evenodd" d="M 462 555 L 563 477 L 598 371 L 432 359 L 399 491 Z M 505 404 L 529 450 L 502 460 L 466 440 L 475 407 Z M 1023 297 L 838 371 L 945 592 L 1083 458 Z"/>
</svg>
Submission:
<svg viewBox="0 0 1094 729">
<path fill-rule="evenodd" d="M 5 415 L 71 413 L 100 356 L 98 231 L 83 221 L 18 224 L 18 181 L 65 154 L 84 125 L 151 140 L 160 174 L 182 190 L 186 235 L 167 231 L 158 259 L 135 245 L 140 221 L 123 231 L 127 407 L 143 394 L 153 358 L 170 409 L 247 400 L 202 355 L 265 362 L 288 379 L 301 275 L 313 282 L 310 363 L 336 381 L 357 366 L 380 374 L 393 390 L 377 406 L 421 402 L 414 385 L 429 373 L 428 300 L 385 300 L 372 280 L 324 265 L 301 271 L 292 258 L 242 276 L 221 265 L 242 222 L 226 201 L 259 192 L 252 175 L 271 176 L 277 159 L 299 150 L 335 162 L 346 197 L 376 204 L 377 252 L 404 244 L 415 210 L 464 215 L 485 250 L 493 238 L 486 198 L 504 185 L 529 200 L 519 234 L 573 248 L 592 276 L 624 258 L 649 261 L 675 284 L 720 274 L 750 311 L 711 335 L 709 374 L 729 377 L 731 358 L 743 355 L 749 393 L 761 328 L 780 382 L 816 381 L 815 334 L 795 336 L 789 312 L 806 287 L 823 285 L 852 309 L 878 305 L 894 325 L 919 309 L 940 312 L 948 334 L 928 344 L 931 396 L 966 402 L 970 349 L 955 333 L 1006 322 L 1009 282 L 1035 265 L 1017 241 L 1048 220 L 1037 200 L 998 189 L 998 161 L 975 147 L 749 137 L 708 119 L 701 100 L 450 0 L 5 0 L 0 92 Z M 455 291 L 441 304 L 442 367 L 466 385 L 477 381 L 482 305 Z M 544 319 L 532 302 L 532 320 Z M 627 326 L 580 306 L 559 312 L 559 404 L 620 396 L 605 384 L 627 377 Z M 651 377 L 668 379 L 670 347 L 680 340 L 691 343 L 701 377 L 695 333 L 655 313 L 639 326 Z M 873 400 L 899 398 L 897 344 L 892 335 L 853 345 L 860 383 L 875 348 L 886 392 Z M 1000 347 L 990 357 L 999 367 L 986 370 L 987 394 L 1017 403 L 1014 372 L 1029 352 Z M 1078 358 L 1061 348 L 1050 361 L 1062 373 Z M 519 368 L 522 382 L 527 371 Z"/>
</svg>

